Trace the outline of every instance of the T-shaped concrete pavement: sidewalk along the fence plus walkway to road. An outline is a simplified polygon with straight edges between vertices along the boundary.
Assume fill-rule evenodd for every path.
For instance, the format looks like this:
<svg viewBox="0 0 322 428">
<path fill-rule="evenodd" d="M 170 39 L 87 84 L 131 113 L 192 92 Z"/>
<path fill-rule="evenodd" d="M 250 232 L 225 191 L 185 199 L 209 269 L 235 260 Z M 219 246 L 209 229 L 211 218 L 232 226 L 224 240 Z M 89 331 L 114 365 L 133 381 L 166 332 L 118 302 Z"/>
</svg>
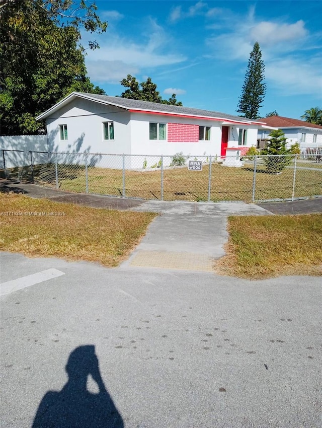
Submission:
<svg viewBox="0 0 322 428">
<path fill-rule="evenodd" d="M 84 206 L 151 211 L 153 220 L 145 237 L 134 249 L 122 269 L 161 268 L 213 271 L 213 261 L 225 255 L 228 216 L 273 215 L 273 212 L 322 212 L 322 199 L 253 204 L 245 202 L 168 202 L 122 199 L 84 193 L 70 193 L 34 184 L 2 182 L 3 191 L 21 192 L 34 198 L 69 202 Z M 269 209 L 265 209 L 265 207 Z"/>
</svg>

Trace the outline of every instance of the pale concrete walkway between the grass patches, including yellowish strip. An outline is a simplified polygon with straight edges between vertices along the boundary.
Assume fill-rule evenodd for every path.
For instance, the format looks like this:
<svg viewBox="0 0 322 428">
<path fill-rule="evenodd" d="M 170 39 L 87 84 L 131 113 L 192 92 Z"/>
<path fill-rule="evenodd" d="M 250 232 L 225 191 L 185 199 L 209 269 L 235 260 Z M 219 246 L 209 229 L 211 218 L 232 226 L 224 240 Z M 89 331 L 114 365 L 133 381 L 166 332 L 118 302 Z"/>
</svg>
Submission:
<svg viewBox="0 0 322 428">
<path fill-rule="evenodd" d="M 227 216 L 271 215 L 254 204 L 146 201 L 131 211 L 159 212 L 145 237 L 121 267 L 213 272 L 225 255 Z"/>
</svg>

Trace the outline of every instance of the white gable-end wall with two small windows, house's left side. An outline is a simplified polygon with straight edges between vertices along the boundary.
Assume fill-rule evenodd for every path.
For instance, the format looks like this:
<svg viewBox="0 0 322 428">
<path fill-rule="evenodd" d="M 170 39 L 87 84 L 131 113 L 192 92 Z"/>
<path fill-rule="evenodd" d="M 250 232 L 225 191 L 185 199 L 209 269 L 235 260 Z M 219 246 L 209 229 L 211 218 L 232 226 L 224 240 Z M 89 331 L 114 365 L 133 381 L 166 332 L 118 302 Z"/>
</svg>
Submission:
<svg viewBox="0 0 322 428">
<path fill-rule="evenodd" d="M 47 119 L 49 151 L 120 155 L 130 153 L 129 120 L 130 114 L 118 107 L 84 99 L 73 100 Z M 114 122 L 113 140 L 103 138 L 103 122 L 108 121 Z M 67 125 L 67 140 L 60 139 L 59 125 Z M 122 167 L 121 157 L 116 161 L 115 158 L 109 160 L 106 156 L 95 156 L 92 161 L 96 166 Z"/>
</svg>

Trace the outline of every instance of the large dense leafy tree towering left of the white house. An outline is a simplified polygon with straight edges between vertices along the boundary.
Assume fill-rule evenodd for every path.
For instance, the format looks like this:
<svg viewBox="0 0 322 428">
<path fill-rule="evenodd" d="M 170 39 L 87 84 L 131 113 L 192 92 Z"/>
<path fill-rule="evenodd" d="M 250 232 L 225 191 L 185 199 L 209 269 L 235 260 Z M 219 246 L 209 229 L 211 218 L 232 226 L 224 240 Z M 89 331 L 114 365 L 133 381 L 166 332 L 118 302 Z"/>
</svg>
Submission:
<svg viewBox="0 0 322 428">
<path fill-rule="evenodd" d="M 0 0 L 2 135 L 40 132 L 35 117 L 71 91 L 104 93 L 87 77 L 80 44 L 82 29 L 106 30 L 96 10 L 84 0 Z"/>
</svg>

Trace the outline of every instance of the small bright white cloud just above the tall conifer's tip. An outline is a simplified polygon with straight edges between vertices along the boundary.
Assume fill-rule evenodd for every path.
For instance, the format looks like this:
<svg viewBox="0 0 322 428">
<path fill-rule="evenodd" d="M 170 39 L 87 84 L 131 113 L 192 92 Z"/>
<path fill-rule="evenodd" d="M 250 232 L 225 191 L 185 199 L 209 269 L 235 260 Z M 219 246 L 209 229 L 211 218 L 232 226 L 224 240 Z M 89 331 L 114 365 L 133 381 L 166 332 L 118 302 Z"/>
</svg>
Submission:
<svg viewBox="0 0 322 428">
<path fill-rule="evenodd" d="M 295 24 L 262 21 L 251 30 L 252 39 L 263 46 L 298 40 L 306 35 L 307 31 L 302 20 L 297 21 Z"/>
</svg>

